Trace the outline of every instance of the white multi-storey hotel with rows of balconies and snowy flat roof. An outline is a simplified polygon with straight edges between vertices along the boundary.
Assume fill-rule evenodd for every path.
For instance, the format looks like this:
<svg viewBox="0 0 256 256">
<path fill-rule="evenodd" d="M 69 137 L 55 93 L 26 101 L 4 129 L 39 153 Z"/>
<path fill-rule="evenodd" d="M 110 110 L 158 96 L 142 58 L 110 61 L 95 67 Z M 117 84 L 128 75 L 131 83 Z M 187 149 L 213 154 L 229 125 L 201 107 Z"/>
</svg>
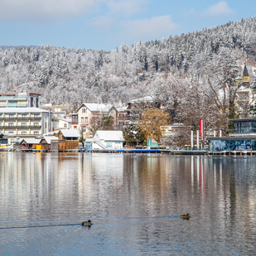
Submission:
<svg viewBox="0 0 256 256">
<path fill-rule="evenodd" d="M 0 109 L 0 132 L 14 137 L 35 138 L 52 129 L 51 112 L 38 108 Z"/>
</svg>

